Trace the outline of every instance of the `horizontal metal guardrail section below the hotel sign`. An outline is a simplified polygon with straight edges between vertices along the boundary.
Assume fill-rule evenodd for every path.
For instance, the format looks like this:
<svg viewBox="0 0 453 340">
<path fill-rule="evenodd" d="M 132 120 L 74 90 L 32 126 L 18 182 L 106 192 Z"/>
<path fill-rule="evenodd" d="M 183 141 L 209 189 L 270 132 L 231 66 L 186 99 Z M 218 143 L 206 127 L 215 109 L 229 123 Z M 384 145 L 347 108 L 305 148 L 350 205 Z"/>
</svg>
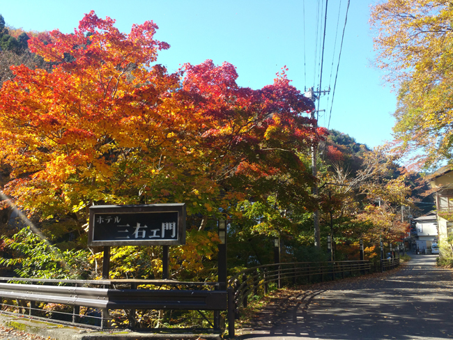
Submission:
<svg viewBox="0 0 453 340">
<path fill-rule="evenodd" d="M 3 299 L 29 301 L 29 315 L 36 314 L 36 302 L 64 304 L 73 307 L 72 322 L 80 320 L 80 307 L 99 309 L 102 312 L 100 327 L 109 328 L 111 320 L 109 310 L 123 309 L 129 319 L 130 328 L 136 325 L 137 309 L 178 309 L 214 311 L 214 329 L 220 329 L 220 311 L 227 309 L 227 291 L 219 291 L 217 282 L 181 282 L 173 280 L 52 280 L 22 279 L 0 277 L 0 302 Z M 25 281 L 26 284 L 5 283 L 5 281 Z M 54 286 L 52 284 L 59 284 Z M 64 286 L 66 285 L 66 286 Z M 82 287 L 98 286 L 98 287 Z M 157 289 L 139 288 L 153 286 Z M 128 286 L 129 288 L 111 288 Z M 162 286 L 173 286 L 176 289 L 160 289 Z M 205 289 L 187 289 L 189 287 Z M 104 288 L 107 287 L 107 288 Z M 185 289 L 181 289 L 185 288 Z M 212 290 L 214 288 L 214 290 Z M 19 306 L 21 307 L 21 306 Z M 201 314 L 206 320 L 206 316 Z M 96 317 L 95 317 L 96 318 Z M 208 322 L 210 322 L 208 320 Z"/>
</svg>

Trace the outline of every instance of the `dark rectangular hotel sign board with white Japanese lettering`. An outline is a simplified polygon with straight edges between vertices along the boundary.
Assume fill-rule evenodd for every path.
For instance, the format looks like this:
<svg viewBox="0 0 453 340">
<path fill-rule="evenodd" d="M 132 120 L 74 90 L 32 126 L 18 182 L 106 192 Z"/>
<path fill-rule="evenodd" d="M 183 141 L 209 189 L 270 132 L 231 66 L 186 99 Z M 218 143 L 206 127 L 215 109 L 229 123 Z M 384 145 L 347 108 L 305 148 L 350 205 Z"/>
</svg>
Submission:
<svg viewBox="0 0 453 340">
<path fill-rule="evenodd" d="M 88 245 L 185 245 L 185 203 L 91 206 Z"/>
</svg>

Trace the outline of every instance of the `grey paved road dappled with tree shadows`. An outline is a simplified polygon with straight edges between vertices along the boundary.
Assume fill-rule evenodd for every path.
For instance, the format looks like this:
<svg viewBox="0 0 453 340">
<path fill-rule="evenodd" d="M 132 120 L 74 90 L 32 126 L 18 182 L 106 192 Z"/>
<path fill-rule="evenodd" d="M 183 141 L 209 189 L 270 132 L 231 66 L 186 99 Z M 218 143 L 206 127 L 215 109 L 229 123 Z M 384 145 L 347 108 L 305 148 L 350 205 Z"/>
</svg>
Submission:
<svg viewBox="0 0 453 340">
<path fill-rule="evenodd" d="M 413 255 L 392 275 L 283 299 L 242 339 L 453 339 L 453 272 L 435 265 L 435 255 Z"/>
</svg>

